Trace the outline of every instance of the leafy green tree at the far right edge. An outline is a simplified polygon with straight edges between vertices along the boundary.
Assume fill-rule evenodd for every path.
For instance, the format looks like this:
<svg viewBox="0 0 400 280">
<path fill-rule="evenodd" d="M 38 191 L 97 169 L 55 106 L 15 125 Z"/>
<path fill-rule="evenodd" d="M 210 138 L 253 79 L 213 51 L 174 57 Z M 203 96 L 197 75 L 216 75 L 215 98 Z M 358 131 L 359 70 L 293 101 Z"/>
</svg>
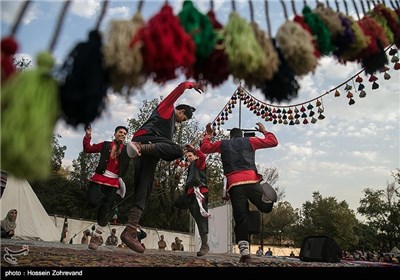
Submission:
<svg viewBox="0 0 400 280">
<path fill-rule="evenodd" d="M 400 193 L 399 169 L 393 173 L 395 182 L 387 184 L 384 190 L 364 189 L 365 197 L 360 200 L 357 211 L 366 217 L 367 224 L 376 229 L 382 251 L 390 251 L 400 244 Z"/>
</svg>

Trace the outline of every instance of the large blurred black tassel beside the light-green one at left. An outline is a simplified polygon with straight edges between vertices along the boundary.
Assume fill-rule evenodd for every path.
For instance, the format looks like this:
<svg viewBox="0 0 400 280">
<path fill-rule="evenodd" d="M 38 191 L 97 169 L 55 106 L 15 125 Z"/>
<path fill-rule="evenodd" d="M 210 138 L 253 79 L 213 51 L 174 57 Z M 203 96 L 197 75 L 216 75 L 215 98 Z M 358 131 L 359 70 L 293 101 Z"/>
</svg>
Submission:
<svg viewBox="0 0 400 280">
<path fill-rule="evenodd" d="M 98 30 L 87 42 L 78 43 L 59 70 L 63 118 L 73 127 L 92 123 L 105 108 L 108 73 L 103 68 L 102 41 Z"/>
</svg>

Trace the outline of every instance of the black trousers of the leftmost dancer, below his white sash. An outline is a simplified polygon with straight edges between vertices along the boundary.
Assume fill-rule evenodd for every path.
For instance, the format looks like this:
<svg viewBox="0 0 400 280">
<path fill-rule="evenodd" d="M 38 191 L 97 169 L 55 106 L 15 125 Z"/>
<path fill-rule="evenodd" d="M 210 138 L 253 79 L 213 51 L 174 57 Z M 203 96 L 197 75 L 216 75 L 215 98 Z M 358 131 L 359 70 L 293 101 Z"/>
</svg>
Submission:
<svg viewBox="0 0 400 280">
<path fill-rule="evenodd" d="M 86 192 L 87 203 L 92 208 L 99 207 L 97 210 L 97 223 L 102 227 L 107 225 L 107 215 L 114 205 L 117 190 L 117 188 L 94 182 L 89 184 Z"/>
</svg>

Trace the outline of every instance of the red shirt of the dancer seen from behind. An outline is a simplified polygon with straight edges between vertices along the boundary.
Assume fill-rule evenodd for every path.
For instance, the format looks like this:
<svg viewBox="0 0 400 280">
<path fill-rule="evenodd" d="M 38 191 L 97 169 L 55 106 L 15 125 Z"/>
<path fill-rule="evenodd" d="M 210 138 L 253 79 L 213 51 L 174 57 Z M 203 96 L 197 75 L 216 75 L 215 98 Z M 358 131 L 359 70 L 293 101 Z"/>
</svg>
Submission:
<svg viewBox="0 0 400 280">
<path fill-rule="evenodd" d="M 272 132 L 264 132 L 264 138 L 249 137 L 250 145 L 253 150 L 272 148 L 278 145 L 278 140 Z M 200 145 L 200 150 L 206 154 L 221 153 L 222 140 L 214 143 L 210 142 L 209 136 L 205 136 Z M 262 180 L 262 176 L 255 170 L 239 170 L 225 174 L 227 180 L 227 190 L 233 186 L 257 183 Z"/>
</svg>

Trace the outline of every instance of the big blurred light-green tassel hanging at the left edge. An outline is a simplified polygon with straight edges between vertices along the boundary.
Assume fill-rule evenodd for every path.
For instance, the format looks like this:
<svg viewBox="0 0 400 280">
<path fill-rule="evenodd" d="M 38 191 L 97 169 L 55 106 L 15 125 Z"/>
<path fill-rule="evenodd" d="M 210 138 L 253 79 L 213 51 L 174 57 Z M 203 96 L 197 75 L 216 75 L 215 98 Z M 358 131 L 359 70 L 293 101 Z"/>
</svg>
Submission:
<svg viewBox="0 0 400 280">
<path fill-rule="evenodd" d="M 51 139 L 59 116 L 54 59 L 37 56 L 37 69 L 11 76 L 1 93 L 1 168 L 19 178 L 42 180 L 51 171 Z"/>
</svg>

